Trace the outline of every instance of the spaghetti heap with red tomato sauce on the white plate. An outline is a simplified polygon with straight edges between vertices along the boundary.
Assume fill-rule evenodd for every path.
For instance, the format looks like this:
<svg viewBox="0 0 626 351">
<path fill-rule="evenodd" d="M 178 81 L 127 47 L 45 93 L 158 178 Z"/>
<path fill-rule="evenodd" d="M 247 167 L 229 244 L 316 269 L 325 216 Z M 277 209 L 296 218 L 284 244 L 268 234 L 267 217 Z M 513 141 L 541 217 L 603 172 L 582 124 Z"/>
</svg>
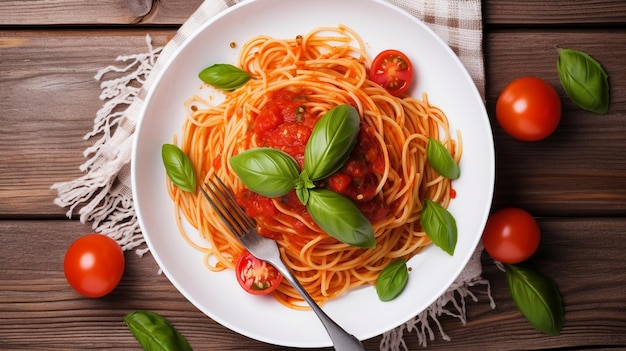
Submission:
<svg viewBox="0 0 626 351">
<path fill-rule="evenodd" d="M 217 105 L 192 96 L 185 103 L 182 137 L 174 142 L 179 142 L 201 178 L 216 174 L 237 194 L 259 232 L 278 242 L 287 266 L 320 304 L 374 284 L 390 262 L 409 259 L 430 244 L 420 225 L 423 201 L 428 198 L 447 207 L 453 190 L 450 180 L 427 163 L 428 138 L 441 141 L 457 163 L 461 158 L 460 134 L 455 141 L 446 115 L 428 102 L 426 94 L 421 100 L 394 97 L 368 80 L 364 47 L 358 35 L 344 26 L 317 28 L 290 40 L 255 37 L 243 45 L 238 62 L 252 79 L 227 92 Z M 270 145 L 288 152 L 302 166 L 307 130 L 340 104 L 354 106 L 361 116 L 359 144 L 338 172 L 339 179 L 331 177 L 320 186 L 352 189 L 346 194 L 372 222 L 373 249 L 349 246 L 322 232 L 293 192 L 274 199 L 251 193 L 228 164 L 230 157 L 244 150 Z M 285 114 L 294 110 L 293 115 Z M 358 179 L 368 184 L 367 191 L 346 188 L 346 175 L 348 183 L 355 184 L 356 177 L 363 176 Z M 208 269 L 234 269 L 245 249 L 204 198 L 180 191 L 169 181 L 168 191 L 181 233 L 204 252 Z M 189 238 L 183 218 L 208 245 Z M 307 308 L 288 283 L 273 294 L 291 308 Z"/>
</svg>

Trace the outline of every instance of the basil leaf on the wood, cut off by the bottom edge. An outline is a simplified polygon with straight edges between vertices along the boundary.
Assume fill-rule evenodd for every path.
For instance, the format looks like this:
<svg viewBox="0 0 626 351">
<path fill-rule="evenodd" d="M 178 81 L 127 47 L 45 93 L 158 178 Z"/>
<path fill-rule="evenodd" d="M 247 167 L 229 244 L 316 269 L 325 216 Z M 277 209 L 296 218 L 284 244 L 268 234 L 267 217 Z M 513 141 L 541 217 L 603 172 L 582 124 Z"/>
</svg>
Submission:
<svg viewBox="0 0 626 351">
<path fill-rule="evenodd" d="M 144 350 L 191 351 L 189 342 L 165 318 L 151 311 L 134 311 L 124 323 Z"/>
</svg>

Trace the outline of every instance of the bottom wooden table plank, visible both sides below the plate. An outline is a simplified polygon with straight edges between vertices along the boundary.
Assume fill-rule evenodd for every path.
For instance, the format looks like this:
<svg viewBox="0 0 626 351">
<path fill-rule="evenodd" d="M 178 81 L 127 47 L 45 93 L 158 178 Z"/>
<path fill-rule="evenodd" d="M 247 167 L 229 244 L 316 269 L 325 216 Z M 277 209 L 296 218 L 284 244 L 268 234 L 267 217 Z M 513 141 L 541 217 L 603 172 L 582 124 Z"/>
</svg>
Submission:
<svg viewBox="0 0 626 351">
<path fill-rule="evenodd" d="M 429 349 L 597 348 L 626 347 L 626 219 L 540 219 L 542 242 L 531 258 L 555 279 L 563 296 L 562 335 L 549 337 L 533 329 L 508 296 L 504 273 L 485 255 L 484 277 L 491 282 L 496 308 L 489 307 L 485 287 L 468 300 L 468 323 L 442 316 L 444 341 L 433 324 Z M 101 299 L 83 298 L 63 276 L 65 250 L 90 228 L 76 221 L 0 221 L 0 349 L 140 350 L 122 322 L 136 309 L 167 317 L 201 350 L 276 350 L 229 331 L 204 316 L 176 291 L 150 254 L 127 252 L 120 286 Z M 449 306 L 452 308 L 451 306 Z M 406 333 L 410 350 L 416 336 Z M 380 338 L 366 342 L 378 348 Z M 329 350 L 329 349 L 326 349 Z"/>
</svg>

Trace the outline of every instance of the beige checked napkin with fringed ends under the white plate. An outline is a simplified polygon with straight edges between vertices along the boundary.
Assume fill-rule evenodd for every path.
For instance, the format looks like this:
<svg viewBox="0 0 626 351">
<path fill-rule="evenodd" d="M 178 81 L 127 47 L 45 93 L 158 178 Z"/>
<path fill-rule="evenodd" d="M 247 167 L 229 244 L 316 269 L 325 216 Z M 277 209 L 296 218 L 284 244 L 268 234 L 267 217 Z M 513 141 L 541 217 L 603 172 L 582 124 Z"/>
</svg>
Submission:
<svg viewBox="0 0 626 351">
<path fill-rule="evenodd" d="M 242 0 L 243 1 L 243 0 Z M 340 1 L 340 0 L 338 0 Z M 387 0 L 428 24 L 459 56 L 484 98 L 484 66 L 482 53 L 482 15 L 480 0 Z M 78 208 L 80 220 L 91 222 L 95 231 L 116 239 L 124 250 L 135 249 L 138 255 L 148 251 L 133 209 L 130 182 L 130 155 L 135 125 L 144 99 L 156 73 L 167 58 L 199 26 L 217 13 L 238 3 L 237 0 L 206 0 L 180 27 L 163 48 L 154 48 L 146 38 L 145 53 L 119 56 L 117 64 L 101 69 L 95 76 L 101 82 L 105 101 L 97 112 L 92 132 L 85 136 L 100 138 L 87 148 L 87 161 L 80 166 L 80 178 L 52 185 L 57 190 L 55 203 L 67 207 L 68 217 Z M 481 278 L 482 267 L 478 248 L 454 284 L 432 306 L 414 319 L 383 335 L 381 350 L 408 350 L 406 333 L 415 333 L 420 345 L 434 340 L 431 324 L 449 340 L 438 317 L 442 314 L 465 323 L 465 300 L 477 297 L 471 287 L 482 285 L 492 307 L 494 302 L 489 282 Z"/>
</svg>

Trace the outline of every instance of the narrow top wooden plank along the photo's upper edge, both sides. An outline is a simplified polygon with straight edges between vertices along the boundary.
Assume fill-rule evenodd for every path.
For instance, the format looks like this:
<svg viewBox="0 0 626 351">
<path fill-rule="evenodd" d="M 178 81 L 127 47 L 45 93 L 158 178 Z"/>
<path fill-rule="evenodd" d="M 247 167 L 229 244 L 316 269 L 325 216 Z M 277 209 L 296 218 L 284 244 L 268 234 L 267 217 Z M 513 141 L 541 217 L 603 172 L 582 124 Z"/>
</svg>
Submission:
<svg viewBox="0 0 626 351">
<path fill-rule="evenodd" d="M 180 25 L 201 0 L 9 0 L 0 2 L 0 25 Z M 486 0 L 489 25 L 570 25 L 626 23 L 622 0 L 565 1 Z"/>
</svg>

